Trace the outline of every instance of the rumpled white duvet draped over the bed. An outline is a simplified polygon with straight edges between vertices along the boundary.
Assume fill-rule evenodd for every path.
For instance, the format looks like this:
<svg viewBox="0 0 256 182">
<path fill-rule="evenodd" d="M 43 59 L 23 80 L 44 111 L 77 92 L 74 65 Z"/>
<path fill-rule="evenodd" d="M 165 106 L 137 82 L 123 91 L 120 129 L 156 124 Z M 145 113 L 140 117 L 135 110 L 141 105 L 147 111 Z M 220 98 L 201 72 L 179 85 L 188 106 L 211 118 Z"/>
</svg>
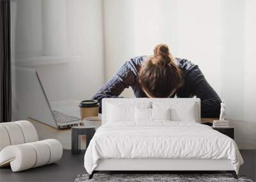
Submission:
<svg viewBox="0 0 256 182">
<path fill-rule="evenodd" d="M 92 174 L 106 158 L 229 159 L 237 174 L 243 163 L 230 137 L 207 125 L 173 121 L 102 125 L 84 155 L 86 171 Z"/>
</svg>

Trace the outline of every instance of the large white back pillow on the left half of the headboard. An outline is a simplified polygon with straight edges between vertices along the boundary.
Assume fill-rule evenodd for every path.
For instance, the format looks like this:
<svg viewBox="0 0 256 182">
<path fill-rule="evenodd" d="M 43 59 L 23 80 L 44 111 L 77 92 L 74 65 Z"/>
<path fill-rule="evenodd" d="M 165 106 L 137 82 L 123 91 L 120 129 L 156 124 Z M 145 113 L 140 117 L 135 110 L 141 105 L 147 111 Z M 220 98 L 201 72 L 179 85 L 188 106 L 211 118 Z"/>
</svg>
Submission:
<svg viewBox="0 0 256 182">
<path fill-rule="evenodd" d="M 150 108 L 150 103 L 108 103 L 107 122 L 135 121 L 135 107 L 147 109 Z"/>
</svg>

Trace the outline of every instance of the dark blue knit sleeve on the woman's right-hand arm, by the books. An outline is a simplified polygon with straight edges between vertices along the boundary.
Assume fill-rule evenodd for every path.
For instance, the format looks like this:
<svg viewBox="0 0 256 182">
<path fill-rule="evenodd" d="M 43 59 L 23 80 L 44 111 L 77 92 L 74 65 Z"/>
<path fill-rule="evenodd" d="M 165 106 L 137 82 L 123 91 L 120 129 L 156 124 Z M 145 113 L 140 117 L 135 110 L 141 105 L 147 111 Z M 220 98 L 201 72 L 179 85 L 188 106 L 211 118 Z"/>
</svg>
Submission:
<svg viewBox="0 0 256 182">
<path fill-rule="evenodd" d="M 201 117 L 218 118 L 220 116 L 220 97 L 205 79 L 198 66 L 189 75 L 191 95 L 201 99 Z"/>
</svg>

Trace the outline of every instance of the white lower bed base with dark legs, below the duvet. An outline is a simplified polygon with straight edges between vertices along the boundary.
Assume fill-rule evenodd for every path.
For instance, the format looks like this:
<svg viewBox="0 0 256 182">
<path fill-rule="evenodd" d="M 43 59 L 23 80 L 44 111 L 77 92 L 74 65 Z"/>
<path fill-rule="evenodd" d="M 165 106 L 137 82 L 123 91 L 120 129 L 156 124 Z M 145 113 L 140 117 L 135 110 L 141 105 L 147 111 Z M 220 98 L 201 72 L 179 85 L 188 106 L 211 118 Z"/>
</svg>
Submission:
<svg viewBox="0 0 256 182">
<path fill-rule="evenodd" d="M 118 172 L 134 172 L 147 171 L 147 173 L 168 173 L 174 171 L 226 171 L 231 173 L 237 179 L 236 171 L 231 165 L 230 160 L 210 160 L 210 159 L 124 159 L 124 158 L 109 158 L 99 160 L 95 170 L 90 174 L 89 179 L 92 179 L 93 174 L 100 171 L 118 171 Z"/>
</svg>

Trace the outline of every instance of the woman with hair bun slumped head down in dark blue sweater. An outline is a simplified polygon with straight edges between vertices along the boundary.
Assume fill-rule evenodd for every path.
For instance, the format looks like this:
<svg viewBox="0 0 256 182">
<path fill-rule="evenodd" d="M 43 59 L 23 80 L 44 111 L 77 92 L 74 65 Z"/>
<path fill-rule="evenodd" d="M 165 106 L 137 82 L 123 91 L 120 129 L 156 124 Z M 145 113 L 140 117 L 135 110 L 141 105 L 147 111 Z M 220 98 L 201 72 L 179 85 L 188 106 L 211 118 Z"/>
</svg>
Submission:
<svg viewBox="0 0 256 182">
<path fill-rule="evenodd" d="M 93 99 L 118 98 L 125 88 L 132 87 L 137 98 L 191 98 L 201 100 L 201 117 L 220 115 L 220 97 L 212 89 L 196 64 L 175 58 L 168 46 L 157 45 L 153 56 L 138 56 L 125 62 Z"/>
</svg>

